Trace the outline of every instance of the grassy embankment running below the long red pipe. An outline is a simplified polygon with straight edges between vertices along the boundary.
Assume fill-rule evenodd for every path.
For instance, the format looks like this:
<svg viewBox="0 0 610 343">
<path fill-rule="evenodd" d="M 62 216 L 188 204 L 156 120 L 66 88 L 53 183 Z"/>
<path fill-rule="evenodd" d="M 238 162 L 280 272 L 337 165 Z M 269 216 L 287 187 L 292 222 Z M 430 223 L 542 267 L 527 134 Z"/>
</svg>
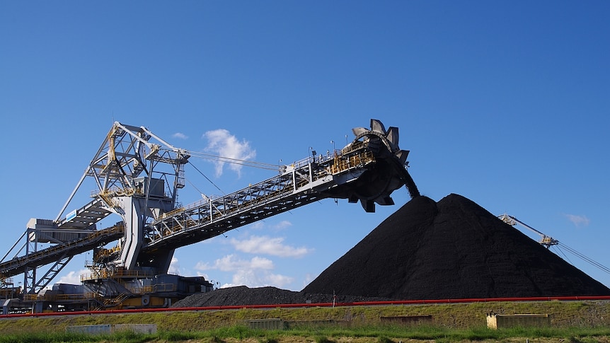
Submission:
<svg viewBox="0 0 610 343">
<path fill-rule="evenodd" d="M 489 330 L 486 314 L 540 313 L 551 315 L 551 327 Z M 432 323 L 384 325 L 381 316 L 432 315 Z M 241 320 L 281 318 L 289 330 L 251 330 Z M 332 321 L 309 325 L 307 321 Z M 294 322 L 301 322 L 294 325 Z M 70 325 L 156 324 L 155 335 L 120 332 L 111 336 L 67 334 Z M 342 338 L 343 337 L 343 338 Z M 609 342 L 610 303 L 535 302 L 471 303 L 427 306 L 336 308 L 273 308 L 200 312 L 66 315 L 0 320 L 3 342 L 436 342 L 491 340 L 502 342 Z M 525 338 L 525 339 L 521 339 Z M 517 339 L 514 340 L 513 339 Z M 521 340 L 519 340 L 521 339 Z"/>
</svg>

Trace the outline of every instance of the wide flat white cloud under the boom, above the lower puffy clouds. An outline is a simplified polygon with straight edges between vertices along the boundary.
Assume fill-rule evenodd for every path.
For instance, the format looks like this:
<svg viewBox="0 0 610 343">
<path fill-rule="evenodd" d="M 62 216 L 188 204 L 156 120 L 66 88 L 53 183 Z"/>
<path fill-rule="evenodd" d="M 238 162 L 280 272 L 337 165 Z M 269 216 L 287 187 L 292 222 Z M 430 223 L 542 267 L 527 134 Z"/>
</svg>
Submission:
<svg viewBox="0 0 610 343">
<path fill-rule="evenodd" d="M 268 237 L 268 236 L 251 236 L 244 240 L 231 238 L 231 244 L 236 250 L 248 252 L 251 254 L 266 254 L 280 257 L 303 257 L 309 254 L 311 250 L 305 247 L 295 248 L 290 245 L 284 245 L 284 238 Z"/>
</svg>

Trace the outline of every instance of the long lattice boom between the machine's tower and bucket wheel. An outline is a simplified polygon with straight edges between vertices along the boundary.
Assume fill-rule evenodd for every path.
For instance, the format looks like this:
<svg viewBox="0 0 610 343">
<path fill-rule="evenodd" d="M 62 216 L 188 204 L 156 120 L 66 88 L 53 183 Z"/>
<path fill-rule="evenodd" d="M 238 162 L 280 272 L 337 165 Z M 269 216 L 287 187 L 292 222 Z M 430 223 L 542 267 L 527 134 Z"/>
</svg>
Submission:
<svg viewBox="0 0 610 343">
<path fill-rule="evenodd" d="M 315 163 L 313 162 L 315 159 Z M 331 197 L 333 187 L 354 180 L 374 163 L 369 151 L 348 158 L 321 156 L 291 165 L 281 175 L 218 199 L 205 199 L 162 216 L 146 228 L 142 251 L 179 248 L 239 226 Z"/>
</svg>

